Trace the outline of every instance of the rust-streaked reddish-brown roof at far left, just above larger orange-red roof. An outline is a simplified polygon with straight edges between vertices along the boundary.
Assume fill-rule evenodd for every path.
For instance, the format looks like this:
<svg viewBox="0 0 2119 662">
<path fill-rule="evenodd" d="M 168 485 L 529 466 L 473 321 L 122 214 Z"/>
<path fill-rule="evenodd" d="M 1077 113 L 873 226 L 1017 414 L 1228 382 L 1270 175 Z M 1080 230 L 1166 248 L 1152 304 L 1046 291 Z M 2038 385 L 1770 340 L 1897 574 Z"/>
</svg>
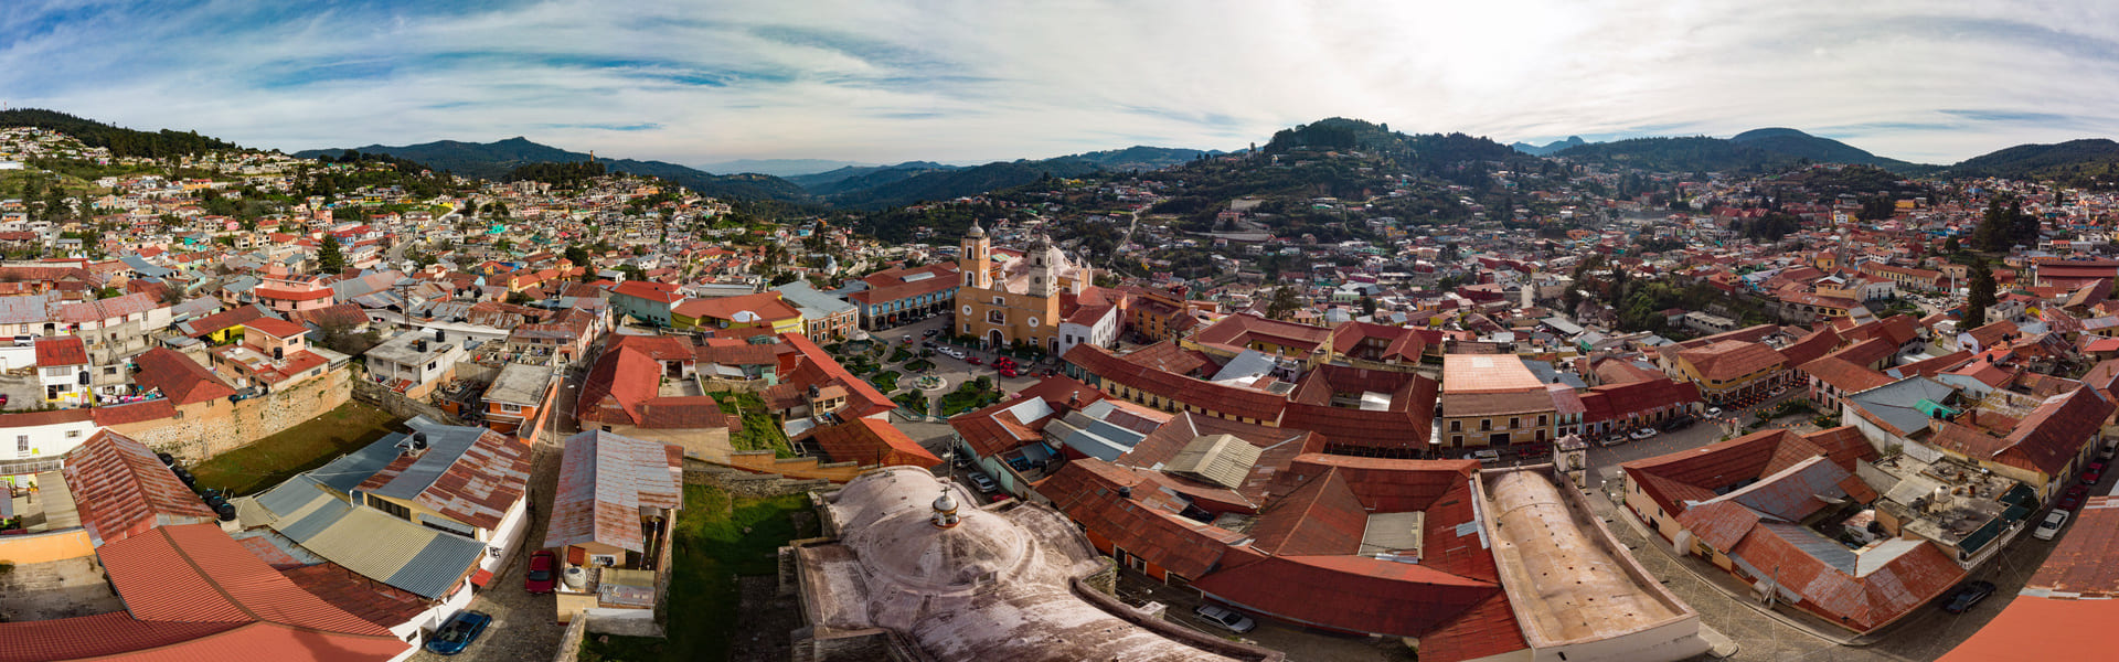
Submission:
<svg viewBox="0 0 2119 662">
<path fill-rule="evenodd" d="M 153 450 L 112 431 L 100 431 L 68 452 L 64 473 L 81 526 L 100 545 L 163 524 L 214 520 L 199 494 L 176 480 Z"/>
</svg>

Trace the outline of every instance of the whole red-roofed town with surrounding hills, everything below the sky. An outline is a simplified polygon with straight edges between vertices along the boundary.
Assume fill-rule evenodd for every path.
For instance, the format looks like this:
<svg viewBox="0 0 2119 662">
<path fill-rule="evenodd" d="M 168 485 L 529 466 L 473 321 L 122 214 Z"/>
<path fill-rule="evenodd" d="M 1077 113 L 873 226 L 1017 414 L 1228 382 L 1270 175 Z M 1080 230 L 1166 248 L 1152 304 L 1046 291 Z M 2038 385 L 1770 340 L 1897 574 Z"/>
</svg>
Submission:
<svg viewBox="0 0 2119 662">
<path fill-rule="evenodd" d="M 0 112 L 0 662 L 2094 645 L 2119 146 L 1261 138 L 773 178 Z"/>
</svg>

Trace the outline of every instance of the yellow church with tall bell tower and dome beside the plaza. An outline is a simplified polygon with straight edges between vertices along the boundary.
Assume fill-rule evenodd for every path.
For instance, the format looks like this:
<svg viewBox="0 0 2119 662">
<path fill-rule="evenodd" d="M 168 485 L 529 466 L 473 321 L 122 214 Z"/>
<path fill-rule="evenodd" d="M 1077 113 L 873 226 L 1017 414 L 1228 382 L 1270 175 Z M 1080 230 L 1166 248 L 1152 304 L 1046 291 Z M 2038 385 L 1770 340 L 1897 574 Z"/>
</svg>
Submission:
<svg viewBox="0 0 2119 662">
<path fill-rule="evenodd" d="M 1096 269 L 1070 261 L 1051 238 L 1038 236 L 1021 259 L 994 257 L 977 223 L 958 255 L 964 278 L 956 289 L 956 331 L 987 348 L 1013 344 L 1060 350 L 1062 293 L 1081 295 Z"/>
</svg>

